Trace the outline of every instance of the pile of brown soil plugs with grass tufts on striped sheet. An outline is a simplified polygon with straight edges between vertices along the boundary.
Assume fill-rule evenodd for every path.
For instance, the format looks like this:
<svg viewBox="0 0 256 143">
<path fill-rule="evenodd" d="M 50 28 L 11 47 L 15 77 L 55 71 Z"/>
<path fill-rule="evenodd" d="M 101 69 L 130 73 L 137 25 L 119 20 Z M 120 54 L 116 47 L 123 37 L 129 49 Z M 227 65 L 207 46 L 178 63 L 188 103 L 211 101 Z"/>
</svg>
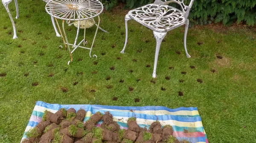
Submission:
<svg viewBox="0 0 256 143">
<path fill-rule="evenodd" d="M 128 119 L 128 129 L 120 129 L 110 112 L 93 114 L 83 123 L 86 111 L 70 108 L 60 109 L 53 114 L 44 112 L 42 121 L 26 132 L 28 139 L 22 143 L 189 143 L 172 136 L 172 126 L 162 128 L 160 122 L 151 124 L 149 129 L 141 128 L 136 118 Z M 96 123 L 103 120 L 100 127 Z"/>
</svg>

